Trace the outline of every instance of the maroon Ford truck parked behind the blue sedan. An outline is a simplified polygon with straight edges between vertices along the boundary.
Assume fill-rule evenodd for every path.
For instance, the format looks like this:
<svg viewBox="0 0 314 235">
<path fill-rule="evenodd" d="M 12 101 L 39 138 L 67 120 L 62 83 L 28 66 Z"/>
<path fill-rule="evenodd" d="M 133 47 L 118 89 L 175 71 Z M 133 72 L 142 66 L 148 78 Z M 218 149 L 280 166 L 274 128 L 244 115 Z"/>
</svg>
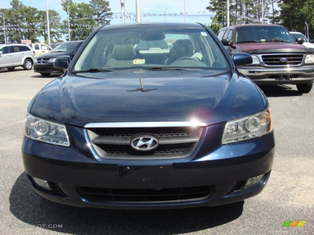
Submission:
<svg viewBox="0 0 314 235">
<path fill-rule="evenodd" d="M 246 52 L 251 65 L 238 70 L 257 84 L 295 84 L 298 91 L 311 91 L 314 80 L 314 49 L 295 39 L 281 25 L 242 24 L 220 29 L 218 36 L 230 55 Z"/>
</svg>

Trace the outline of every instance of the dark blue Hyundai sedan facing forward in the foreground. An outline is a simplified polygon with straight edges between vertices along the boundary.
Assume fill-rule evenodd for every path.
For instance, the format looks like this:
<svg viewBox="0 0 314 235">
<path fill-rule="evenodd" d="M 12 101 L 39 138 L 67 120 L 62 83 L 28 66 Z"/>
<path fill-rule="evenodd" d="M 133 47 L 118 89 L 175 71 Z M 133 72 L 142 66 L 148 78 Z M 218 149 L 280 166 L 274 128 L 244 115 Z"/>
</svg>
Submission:
<svg viewBox="0 0 314 235">
<path fill-rule="evenodd" d="M 135 51 L 169 37 L 164 60 Z M 232 60 L 206 25 L 106 25 L 70 59 L 57 57 L 66 72 L 27 109 L 22 156 L 37 194 L 73 206 L 164 209 L 263 190 L 275 146 L 269 103 L 236 69 L 252 57 Z"/>
</svg>

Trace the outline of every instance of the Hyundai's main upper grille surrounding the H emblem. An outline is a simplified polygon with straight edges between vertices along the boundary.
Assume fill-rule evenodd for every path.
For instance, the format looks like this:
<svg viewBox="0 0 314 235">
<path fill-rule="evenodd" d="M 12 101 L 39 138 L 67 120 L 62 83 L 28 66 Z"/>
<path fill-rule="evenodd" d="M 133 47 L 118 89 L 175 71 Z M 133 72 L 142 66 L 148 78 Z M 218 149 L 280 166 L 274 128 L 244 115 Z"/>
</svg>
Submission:
<svg viewBox="0 0 314 235">
<path fill-rule="evenodd" d="M 189 156 L 203 132 L 196 127 L 87 128 L 87 141 L 96 153 L 107 159 L 171 159 Z M 131 141 L 137 136 L 153 136 L 159 145 L 143 151 L 134 149 Z"/>
</svg>

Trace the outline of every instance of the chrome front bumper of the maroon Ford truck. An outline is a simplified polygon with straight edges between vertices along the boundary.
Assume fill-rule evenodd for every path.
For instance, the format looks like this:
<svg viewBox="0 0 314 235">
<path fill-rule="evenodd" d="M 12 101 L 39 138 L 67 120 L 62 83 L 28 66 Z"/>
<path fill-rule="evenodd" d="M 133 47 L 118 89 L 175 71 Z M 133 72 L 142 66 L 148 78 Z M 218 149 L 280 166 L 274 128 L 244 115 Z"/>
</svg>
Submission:
<svg viewBox="0 0 314 235">
<path fill-rule="evenodd" d="M 302 67 L 263 67 L 239 66 L 241 74 L 249 77 L 256 84 L 301 84 L 314 80 L 314 66 Z"/>
</svg>

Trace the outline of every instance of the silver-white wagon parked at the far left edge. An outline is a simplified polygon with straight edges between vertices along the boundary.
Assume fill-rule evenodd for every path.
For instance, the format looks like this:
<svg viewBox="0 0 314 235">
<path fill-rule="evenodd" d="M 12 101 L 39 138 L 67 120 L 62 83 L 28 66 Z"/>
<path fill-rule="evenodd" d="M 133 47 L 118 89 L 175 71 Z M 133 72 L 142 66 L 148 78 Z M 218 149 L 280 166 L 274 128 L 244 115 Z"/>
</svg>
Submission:
<svg viewBox="0 0 314 235">
<path fill-rule="evenodd" d="M 27 44 L 0 44 L 0 68 L 14 70 L 23 67 L 30 70 L 35 60 L 35 52 Z"/>
</svg>

